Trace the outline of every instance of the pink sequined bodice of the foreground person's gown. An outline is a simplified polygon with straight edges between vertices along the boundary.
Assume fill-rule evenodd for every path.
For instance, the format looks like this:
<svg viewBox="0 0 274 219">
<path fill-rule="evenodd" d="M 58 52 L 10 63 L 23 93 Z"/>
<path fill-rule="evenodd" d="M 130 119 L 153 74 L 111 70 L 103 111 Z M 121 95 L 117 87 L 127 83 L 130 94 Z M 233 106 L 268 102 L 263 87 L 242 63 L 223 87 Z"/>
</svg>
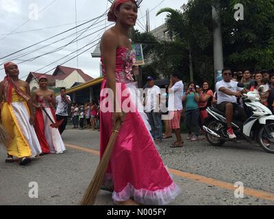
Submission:
<svg viewBox="0 0 274 219">
<path fill-rule="evenodd" d="M 136 60 L 134 51 L 127 47 L 120 47 L 116 50 L 115 79 L 120 83 L 131 83 L 134 81 L 132 66 Z M 105 78 L 105 66 L 101 57 L 103 76 Z"/>
</svg>

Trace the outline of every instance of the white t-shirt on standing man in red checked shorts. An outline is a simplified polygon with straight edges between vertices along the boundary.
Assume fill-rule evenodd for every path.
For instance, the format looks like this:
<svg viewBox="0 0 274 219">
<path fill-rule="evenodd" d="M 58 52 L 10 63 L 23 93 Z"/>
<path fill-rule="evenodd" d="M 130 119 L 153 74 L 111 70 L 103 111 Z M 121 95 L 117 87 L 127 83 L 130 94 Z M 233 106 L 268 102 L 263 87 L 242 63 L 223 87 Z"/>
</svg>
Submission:
<svg viewBox="0 0 274 219">
<path fill-rule="evenodd" d="M 169 111 L 183 110 L 184 83 L 177 81 L 169 89 Z"/>
</svg>

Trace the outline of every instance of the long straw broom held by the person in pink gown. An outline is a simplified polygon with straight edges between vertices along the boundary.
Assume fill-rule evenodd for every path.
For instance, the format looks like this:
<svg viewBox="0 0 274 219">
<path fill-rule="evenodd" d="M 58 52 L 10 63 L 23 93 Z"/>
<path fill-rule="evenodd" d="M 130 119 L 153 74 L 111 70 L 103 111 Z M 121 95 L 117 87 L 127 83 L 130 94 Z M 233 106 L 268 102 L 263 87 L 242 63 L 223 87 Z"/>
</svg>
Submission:
<svg viewBox="0 0 274 219">
<path fill-rule="evenodd" d="M 103 153 L 103 157 L 101 158 L 101 161 L 97 167 L 97 170 L 95 172 L 95 175 L 90 182 L 90 185 L 88 185 L 88 189 L 86 190 L 86 193 L 84 194 L 84 197 L 81 201 L 81 205 L 94 205 L 97 194 L 103 185 L 103 178 L 105 176 L 105 171 L 108 168 L 108 164 L 110 162 L 110 157 L 112 155 L 112 151 L 114 148 L 114 144 L 116 142 L 116 138 L 118 136 L 118 133 L 121 129 L 121 124 L 123 123 L 123 120 L 125 120 L 125 113 L 123 113 L 123 117 L 121 120 L 118 120 L 115 124 L 114 131 L 112 132 L 112 135 L 110 136 L 110 141 L 108 142 L 108 145 L 105 149 L 105 152 Z"/>
</svg>

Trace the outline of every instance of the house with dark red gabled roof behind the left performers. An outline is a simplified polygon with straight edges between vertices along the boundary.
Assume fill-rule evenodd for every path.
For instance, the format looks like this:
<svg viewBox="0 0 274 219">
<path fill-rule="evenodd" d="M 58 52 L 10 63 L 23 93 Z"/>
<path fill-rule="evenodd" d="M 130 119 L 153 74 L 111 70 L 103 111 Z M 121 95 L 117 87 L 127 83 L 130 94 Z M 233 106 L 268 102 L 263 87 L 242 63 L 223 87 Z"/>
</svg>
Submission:
<svg viewBox="0 0 274 219">
<path fill-rule="evenodd" d="M 86 83 L 93 79 L 81 69 L 57 66 L 52 75 L 30 72 L 26 81 L 29 83 L 31 90 L 38 88 L 38 79 L 42 75 L 47 77 L 49 86 L 53 88 L 71 88 L 75 82 Z"/>
</svg>

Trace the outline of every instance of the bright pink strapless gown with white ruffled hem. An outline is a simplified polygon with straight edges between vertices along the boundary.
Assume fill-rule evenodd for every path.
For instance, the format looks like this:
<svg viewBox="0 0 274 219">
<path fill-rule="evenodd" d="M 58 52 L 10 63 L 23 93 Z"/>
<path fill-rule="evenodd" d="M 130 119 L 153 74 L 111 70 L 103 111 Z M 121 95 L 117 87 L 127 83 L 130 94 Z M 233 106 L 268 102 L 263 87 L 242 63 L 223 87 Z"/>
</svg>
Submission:
<svg viewBox="0 0 274 219">
<path fill-rule="evenodd" d="M 102 68 L 105 76 L 105 69 Z M 166 170 L 162 159 L 155 148 L 149 130 L 147 116 L 143 112 L 142 104 L 136 101 L 137 88 L 132 77 L 132 66 L 135 54 L 126 47 L 116 51 L 116 92 L 120 94 L 129 90 L 130 96 L 122 96 L 134 112 L 127 112 L 116 139 L 110 164 L 105 175 L 104 185 L 112 186 L 114 202 L 126 201 L 133 198 L 142 205 L 166 205 L 173 201 L 180 188 L 173 182 Z M 103 112 L 107 95 L 105 94 L 106 79 L 101 85 L 100 97 L 100 157 L 112 134 L 112 113 Z M 117 86 L 119 85 L 119 86 Z"/>
</svg>

